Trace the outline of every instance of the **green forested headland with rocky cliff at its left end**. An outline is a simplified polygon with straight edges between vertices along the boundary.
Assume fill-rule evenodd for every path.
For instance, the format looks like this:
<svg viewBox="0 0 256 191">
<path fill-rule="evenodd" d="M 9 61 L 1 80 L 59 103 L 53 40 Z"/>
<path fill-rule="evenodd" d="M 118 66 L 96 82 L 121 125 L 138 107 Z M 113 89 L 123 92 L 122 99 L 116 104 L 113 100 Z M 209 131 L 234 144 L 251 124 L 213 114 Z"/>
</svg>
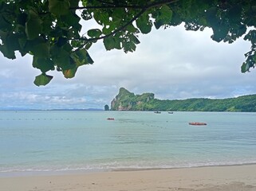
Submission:
<svg viewBox="0 0 256 191">
<path fill-rule="evenodd" d="M 112 111 L 256 111 L 256 95 L 239 96 L 227 99 L 156 99 L 153 93 L 135 95 L 125 88 L 120 88 L 112 99 Z"/>
</svg>

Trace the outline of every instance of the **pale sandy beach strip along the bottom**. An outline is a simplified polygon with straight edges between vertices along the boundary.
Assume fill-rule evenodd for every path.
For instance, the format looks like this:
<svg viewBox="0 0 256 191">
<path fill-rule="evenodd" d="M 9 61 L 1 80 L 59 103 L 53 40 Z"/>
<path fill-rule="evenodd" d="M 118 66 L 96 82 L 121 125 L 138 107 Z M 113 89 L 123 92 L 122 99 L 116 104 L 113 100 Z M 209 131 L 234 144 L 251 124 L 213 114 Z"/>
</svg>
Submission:
<svg viewBox="0 0 256 191">
<path fill-rule="evenodd" d="M 256 165 L 0 177 L 2 191 L 256 191 Z"/>
</svg>

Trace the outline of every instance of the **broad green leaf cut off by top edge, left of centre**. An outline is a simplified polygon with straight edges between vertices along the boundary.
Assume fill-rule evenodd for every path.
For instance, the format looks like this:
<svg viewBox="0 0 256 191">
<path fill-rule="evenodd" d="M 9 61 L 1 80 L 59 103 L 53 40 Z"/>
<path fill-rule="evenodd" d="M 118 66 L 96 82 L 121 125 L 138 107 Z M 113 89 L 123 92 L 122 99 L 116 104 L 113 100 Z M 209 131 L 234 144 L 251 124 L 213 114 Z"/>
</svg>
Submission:
<svg viewBox="0 0 256 191">
<path fill-rule="evenodd" d="M 49 12 L 57 16 L 68 14 L 69 7 L 68 0 L 49 0 Z"/>
</svg>

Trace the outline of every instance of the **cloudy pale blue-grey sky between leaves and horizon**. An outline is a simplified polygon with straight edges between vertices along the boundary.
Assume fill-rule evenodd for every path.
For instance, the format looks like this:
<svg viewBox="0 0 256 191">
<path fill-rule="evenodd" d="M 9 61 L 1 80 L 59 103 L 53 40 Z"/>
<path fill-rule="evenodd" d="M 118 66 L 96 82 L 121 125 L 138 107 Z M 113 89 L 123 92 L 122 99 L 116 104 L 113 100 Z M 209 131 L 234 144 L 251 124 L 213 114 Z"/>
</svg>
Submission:
<svg viewBox="0 0 256 191">
<path fill-rule="evenodd" d="M 49 72 L 45 87 L 33 84 L 40 71 L 32 57 L 8 60 L 0 53 L 0 109 L 100 108 L 110 105 L 119 88 L 158 99 L 228 98 L 256 94 L 256 69 L 240 72 L 250 43 L 211 40 L 211 29 L 191 32 L 183 26 L 140 35 L 135 53 L 106 51 L 102 41 L 90 50 L 93 65 L 73 79 Z"/>
</svg>

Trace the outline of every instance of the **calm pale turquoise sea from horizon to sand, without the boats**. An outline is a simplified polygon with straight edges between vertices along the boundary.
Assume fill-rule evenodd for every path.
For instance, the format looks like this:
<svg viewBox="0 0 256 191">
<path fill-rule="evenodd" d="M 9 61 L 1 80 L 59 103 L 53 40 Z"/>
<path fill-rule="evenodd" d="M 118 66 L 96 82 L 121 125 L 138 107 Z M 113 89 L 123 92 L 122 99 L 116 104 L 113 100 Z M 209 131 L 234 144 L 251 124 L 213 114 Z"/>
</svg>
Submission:
<svg viewBox="0 0 256 191">
<path fill-rule="evenodd" d="M 255 163 L 256 113 L 0 111 L 1 177 Z"/>
</svg>

